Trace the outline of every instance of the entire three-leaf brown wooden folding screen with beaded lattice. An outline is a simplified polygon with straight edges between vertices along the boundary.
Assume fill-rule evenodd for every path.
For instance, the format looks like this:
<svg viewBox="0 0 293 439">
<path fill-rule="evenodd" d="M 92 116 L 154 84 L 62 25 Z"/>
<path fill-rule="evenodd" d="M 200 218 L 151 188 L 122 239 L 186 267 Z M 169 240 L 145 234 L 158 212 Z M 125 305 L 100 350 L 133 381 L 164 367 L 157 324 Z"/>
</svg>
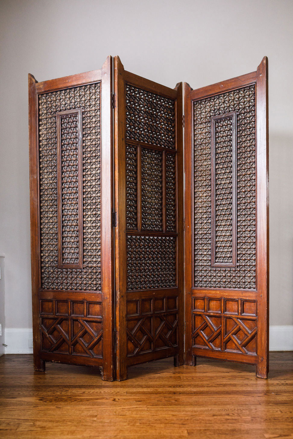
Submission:
<svg viewBox="0 0 293 439">
<path fill-rule="evenodd" d="M 267 84 L 267 58 L 185 84 L 183 116 L 182 83 L 141 78 L 119 57 L 113 80 L 111 57 L 80 75 L 29 75 L 36 370 L 87 364 L 123 380 L 134 364 L 206 356 L 267 376 Z"/>
</svg>

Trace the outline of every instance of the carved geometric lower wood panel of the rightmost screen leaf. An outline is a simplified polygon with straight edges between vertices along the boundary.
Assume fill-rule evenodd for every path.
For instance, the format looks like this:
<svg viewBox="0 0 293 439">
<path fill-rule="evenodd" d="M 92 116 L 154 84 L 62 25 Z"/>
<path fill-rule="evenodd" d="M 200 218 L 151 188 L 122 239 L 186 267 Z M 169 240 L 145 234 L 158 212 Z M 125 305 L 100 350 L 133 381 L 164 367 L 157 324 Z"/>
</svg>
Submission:
<svg viewBox="0 0 293 439">
<path fill-rule="evenodd" d="M 193 297 L 192 346 L 257 355 L 257 301 Z"/>
</svg>

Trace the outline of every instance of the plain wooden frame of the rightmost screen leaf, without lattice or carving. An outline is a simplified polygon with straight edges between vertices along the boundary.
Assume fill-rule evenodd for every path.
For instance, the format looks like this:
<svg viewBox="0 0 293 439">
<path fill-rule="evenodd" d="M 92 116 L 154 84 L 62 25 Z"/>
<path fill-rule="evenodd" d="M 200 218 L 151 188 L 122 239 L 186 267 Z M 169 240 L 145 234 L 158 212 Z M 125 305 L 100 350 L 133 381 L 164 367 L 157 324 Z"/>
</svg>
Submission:
<svg viewBox="0 0 293 439">
<path fill-rule="evenodd" d="M 192 102 L 235 90 L 249 84 L 256 86 L 256 212 L 257 212 L 257 272 L 256 290 L 194 288 L 193 280 L 193 147 L 192 147 Z M 185 83 L 185 363 L 195 365 L 196 356 L 239 361 L 256 365 L 257 376 L 268 376 L 268 59 L 264 57 L 256 72 L 229 79 L 198 90 Z M 223 296 L 257 304 L 257 355 L 221 352 L 213 349 L 192 347 L 192 300 L 203 297 Z M 216 300 L 216 299 L 215 299 Z M 221 299 L 222 300 L 222 299 Z M 219 302 L 220 303 L 220 302 Z M 242 303 L 242 302 L 241 302 Z M 242 306 L 242 305 L 241 305 Z M 205 308 L 206 309 L 206 308 Z M 239 309 L 239 308 L 238 308 Z M 208 309 L 206 309 L 208 311 Z M 223 313 L 223 308 L 221 313 Z M 239 311 L 241 313 L 241 311 Z M 214 314 L 217 315 L 217 314 Z M 222 314 L 223 315 L 223 314 Z M 254 317 L 253 317 L 254 318 Z M 222 340 L 223 342 L 223 340 Z"/>
</svg>

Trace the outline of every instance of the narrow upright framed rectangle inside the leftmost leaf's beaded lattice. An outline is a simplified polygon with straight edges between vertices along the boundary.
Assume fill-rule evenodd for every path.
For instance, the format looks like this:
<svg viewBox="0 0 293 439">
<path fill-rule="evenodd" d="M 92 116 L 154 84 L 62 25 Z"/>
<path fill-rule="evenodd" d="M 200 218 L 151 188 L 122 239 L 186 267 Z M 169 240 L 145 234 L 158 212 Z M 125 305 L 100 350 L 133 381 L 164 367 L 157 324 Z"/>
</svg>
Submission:
<svg viewBox="0 0 293 439">
<path fill-rule="evenodd" d="M 82 268 L 82 113 L 57 112 L 58 267 Z"/>
</svg>

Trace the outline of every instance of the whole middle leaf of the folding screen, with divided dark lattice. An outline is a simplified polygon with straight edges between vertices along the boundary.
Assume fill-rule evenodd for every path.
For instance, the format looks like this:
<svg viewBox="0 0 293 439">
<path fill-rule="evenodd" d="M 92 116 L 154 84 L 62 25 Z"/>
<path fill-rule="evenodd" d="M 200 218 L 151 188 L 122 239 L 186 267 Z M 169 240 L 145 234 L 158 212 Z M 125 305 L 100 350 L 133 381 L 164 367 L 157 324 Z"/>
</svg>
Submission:
<svg viewBox="0 0 293 439">
<path fill-rule="evenodd" d="M 114 59 L 117 379 L 174 356 L 183 364 L 182 85 Z"/>
</svg>

